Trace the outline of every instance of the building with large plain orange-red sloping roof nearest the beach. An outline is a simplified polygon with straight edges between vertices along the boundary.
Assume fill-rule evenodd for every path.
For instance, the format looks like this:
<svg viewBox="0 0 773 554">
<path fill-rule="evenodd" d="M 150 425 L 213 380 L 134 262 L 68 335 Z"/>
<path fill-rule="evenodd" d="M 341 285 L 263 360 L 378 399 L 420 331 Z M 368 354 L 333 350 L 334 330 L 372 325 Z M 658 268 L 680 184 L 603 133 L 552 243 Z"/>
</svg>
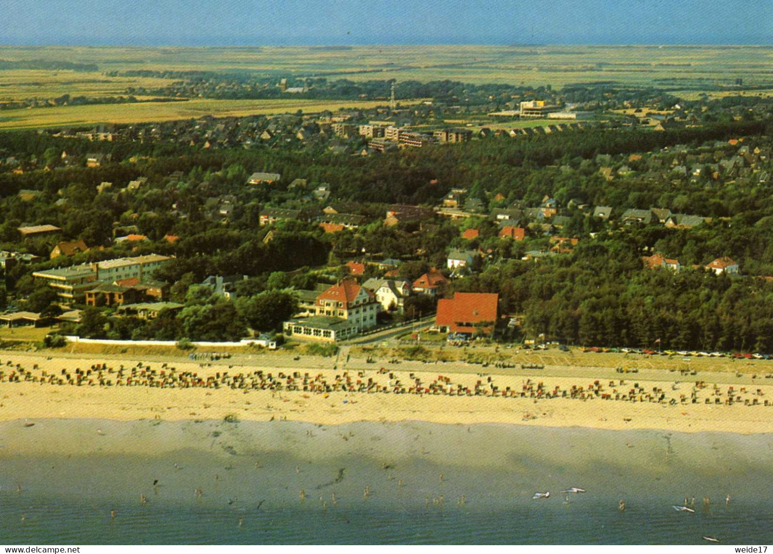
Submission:
<svg viewBox="0 0 773 554">
<path fill-rule="evenodd" d="M 454 335 L 494 334 L 499 294 L 457 292 L 438 301 L 435 327 Z"/>
</svg>

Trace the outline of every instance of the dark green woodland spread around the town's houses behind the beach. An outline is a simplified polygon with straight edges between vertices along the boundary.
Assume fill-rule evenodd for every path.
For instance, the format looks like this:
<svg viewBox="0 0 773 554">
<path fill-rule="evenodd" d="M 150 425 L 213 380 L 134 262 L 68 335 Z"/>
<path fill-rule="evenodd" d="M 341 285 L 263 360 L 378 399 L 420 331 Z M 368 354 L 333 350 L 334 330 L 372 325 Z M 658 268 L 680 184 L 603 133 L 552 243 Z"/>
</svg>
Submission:
<svg viewBox="0 0 773 554">
<path fill-rule="evenodd" d="M 499 292 L 502 313 L 522 318 L 519 329 L 525 335 L 585 345 L 649 346 L 661 339 L 668 348 L 773 352 L 773 283 L 766 278 L 773 275 L 773 195 L 769 185 L 731 181 L 716 163 L 737 150 L 728 139 L 744 138 L 748 148 L 770 148 L 770 134 L 770 124 L 736 121 L 660 133 L 589 129 L 518 141 L 492 137 L 342 157 L 325 151 L 203 151 L 158 141 L 88 142 L 6 133 L 0 134 L 0 151 L 8 155 L 23 153 L 56 164 L 63 150 L 76 158 L 98 151 L 111 155 L 111 161 L 99 168 L 0 173 L 0 246 L 43 257 L 7 275 L 18 307 L 36 310 L 53 300 L 32 282 L 32 270 L 151 252 L 175 256 L 156 277 L 174 283 L 172 299 L 185 304 L 178 315 L 133 321 L 90 308 L 77 329 L 85 336 L 238 338 L 248 326 L 278 328 L 294 309 L 288 287 L 332 282 L 347 259 L 363 253 L 396 257 L 406 262 L 401 276 L 415 278 L 428 267 L 444 267 L 449 248 L 465 247 L 485 253 L 485 262 L 477 273 L 454 280 L 446 294 Z M 644 157 L 632 158 L 634 153 Z M 139 161 L 130 163 L 133 157 Z M 718 170 L 682 177 L 669 173 L 691 159 Z M 619 175 L 609 181 L 600 175 L 602 167 Z M 245 179 L 253 171 L 281 173 L 284 184 L 247 187 Z M 172 181 L 172 172 L 183 176 Z M 148 178 L 145 188 L 119 190 L 140 176 Z M 331 234 L 313 223 L 285 221 L 266 240 L 268 229 L 258 223 L 261 209 L 305 206 L 287 189 L 295 178 L 329 183 L 329 202 L 373 223 L 357 232 Z M 100 182 L 116 183 L 115 191 L 97 194 Z M 629 208 L 662 207 L 710 219 L 692 229 L 621 226 L 562 207 L 568 222 L 560 232 L 579 242 L 570 253 L 538 263 L 521 257 L 527 250 L 547 250 L 549 235 L 558 231 L 545 233 L 528 219 L 526 240 L 517 242 L 499 239 L 485 213 L 461 227 L 447 220 L 427 228 L 415 223 L 385 227 L 380 221 L 390 203 L 434 206 L 458 187 L 468 189 L 486 210 L 539 206 L 550 196 L 560 206 L 570 201 L 611 206 L 617 215 Z M 22 199 L 22 190 L 39 194 Z M 226 222 L 213 219 L 213 206 L 229 195 L 235 199 L 233 212 Z M 15 230 L 41 223 L 61 226 L 64 238 L 105 248 L 49 261 L 50 240 L 20 244 Z M 148 240 L 112 243 L 115 224 L 134 226 Z M 480 237 L 462 240 L 460 231 L 471 226 L 481 230 Z M 164 240 L 170 234 L 179 240 Z M 683 270 L 644 270 L 641 257 L 653 252 L 678 257 Z M 743 275 L 715 276 L 692 268 L 722 256 L 740 263 Z M 247 276 L 239 284 L 238 301 L 210 297 L 199 288 L 212 274 Z"/>
</svg>

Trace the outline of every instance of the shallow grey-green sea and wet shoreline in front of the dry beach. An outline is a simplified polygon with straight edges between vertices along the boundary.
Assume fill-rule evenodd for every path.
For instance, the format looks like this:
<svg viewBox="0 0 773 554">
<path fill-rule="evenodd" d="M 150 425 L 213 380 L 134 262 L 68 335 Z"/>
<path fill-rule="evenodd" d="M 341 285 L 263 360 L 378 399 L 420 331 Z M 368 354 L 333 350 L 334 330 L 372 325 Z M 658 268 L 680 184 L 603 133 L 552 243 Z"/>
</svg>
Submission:
<svg viewBox="0 0 773 554">
<path fill-rule="evenodd" d="M 83 454 L 15 453 L 22 431 L 0 429 L 0 543 L 773 541 L 768 435 L 165 422 L 154 436 L 158 423 L 79 425 L 49 422 L 81 439 L 98 425 L 104 437 Z M 117 435 L 144 447 L 121 451 Z M 561 492 L 570 487 L 586 492 Z M 673 509 L 685 496 L 695 513 Z"/>
</svg>

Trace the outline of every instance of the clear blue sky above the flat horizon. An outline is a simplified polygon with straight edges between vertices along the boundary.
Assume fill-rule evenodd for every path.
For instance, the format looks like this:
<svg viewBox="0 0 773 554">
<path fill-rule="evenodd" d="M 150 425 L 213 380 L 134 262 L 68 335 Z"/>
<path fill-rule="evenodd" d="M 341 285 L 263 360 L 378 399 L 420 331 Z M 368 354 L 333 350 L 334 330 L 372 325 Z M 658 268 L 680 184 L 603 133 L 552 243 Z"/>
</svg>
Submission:
<svg viewBox="0 0 773 554">
<path fill-rule="evenodd" d="M 0 44 L 771 44 L 773 0 L 0 0 Z"/>
</svg>

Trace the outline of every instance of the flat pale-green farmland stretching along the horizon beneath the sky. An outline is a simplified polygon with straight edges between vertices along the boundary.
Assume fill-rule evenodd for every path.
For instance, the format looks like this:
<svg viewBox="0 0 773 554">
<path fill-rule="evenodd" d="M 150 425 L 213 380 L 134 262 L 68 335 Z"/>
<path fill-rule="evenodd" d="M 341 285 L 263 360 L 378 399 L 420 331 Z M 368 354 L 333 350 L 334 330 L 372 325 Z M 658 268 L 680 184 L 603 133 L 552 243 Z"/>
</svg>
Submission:
<svg viewBox="0 0 773 554">
<path fill-rule="evenodd" d="M 3 47 L 0 59 L 73 60 L 125 70 L 325 74 L 351 80 L 461 80 L 562 87 L 616 81 L 773 81 L 766 46 L 254 46 L 234 48 Z M 5 81 L 5 78 L 3 79 Z M 692 87 L 690 87 L 692 88 Z"/>
</svg>

